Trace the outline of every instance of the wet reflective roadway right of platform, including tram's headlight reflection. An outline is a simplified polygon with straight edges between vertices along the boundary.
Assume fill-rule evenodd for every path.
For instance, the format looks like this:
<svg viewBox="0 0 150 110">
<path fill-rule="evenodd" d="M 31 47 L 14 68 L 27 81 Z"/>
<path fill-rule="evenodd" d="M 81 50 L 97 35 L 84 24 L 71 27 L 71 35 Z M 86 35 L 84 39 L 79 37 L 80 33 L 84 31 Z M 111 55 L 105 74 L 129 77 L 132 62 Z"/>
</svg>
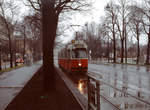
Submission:
<svg viewBox="0 0 150 110">
<path fill-rule="evenodd" d="M 121 110 L 150 110 L 150 66 L 89 64 L 88 73 L 111 85 L 102 84 L 100 87 L 100 94 L 104 96 L 101 98 L 102 110 L 114 110 L 112 104 Z M 80 75 L 71 79 L 80 93 L 87 97 L 87 79 Z"/>
</svg>

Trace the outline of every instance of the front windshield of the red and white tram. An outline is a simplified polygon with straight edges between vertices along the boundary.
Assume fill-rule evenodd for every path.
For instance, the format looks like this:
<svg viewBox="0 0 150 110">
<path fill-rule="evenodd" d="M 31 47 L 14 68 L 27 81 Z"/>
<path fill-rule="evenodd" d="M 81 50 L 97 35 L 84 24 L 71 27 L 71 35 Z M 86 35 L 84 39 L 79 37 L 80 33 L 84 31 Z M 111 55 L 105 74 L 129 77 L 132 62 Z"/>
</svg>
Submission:
<svg viewBox="0 0 150 110">
<path fill-rule="evenodd" d="M 86 58 L 87 54 L 85 50 L 74 50 L 72 52 L 72 58 Z"/>
</svg>

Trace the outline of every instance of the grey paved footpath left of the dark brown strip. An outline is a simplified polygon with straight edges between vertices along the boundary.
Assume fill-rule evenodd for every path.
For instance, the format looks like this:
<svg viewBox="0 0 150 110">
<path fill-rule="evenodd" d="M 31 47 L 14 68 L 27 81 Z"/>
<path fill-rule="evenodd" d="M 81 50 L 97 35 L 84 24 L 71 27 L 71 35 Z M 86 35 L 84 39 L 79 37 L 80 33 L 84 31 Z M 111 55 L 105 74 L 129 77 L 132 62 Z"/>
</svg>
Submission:
<svg viewBox="0 0 150 110">
<path fill-rule="evenodd" d="M 5 109 L 41 65 L 42 62 L 38 62 L 0 75 L 0 110 Z"/>
</svg>

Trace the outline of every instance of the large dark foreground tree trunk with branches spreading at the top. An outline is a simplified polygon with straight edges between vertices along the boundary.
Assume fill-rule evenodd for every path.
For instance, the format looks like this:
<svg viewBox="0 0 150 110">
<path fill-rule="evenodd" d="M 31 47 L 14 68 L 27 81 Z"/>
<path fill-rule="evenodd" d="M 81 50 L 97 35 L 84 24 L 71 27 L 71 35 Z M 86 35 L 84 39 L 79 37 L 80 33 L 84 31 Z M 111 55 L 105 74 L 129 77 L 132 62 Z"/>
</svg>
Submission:
<svg viewBox="0 0 150 110">
<path fill-rule="evenodd" d="M 44 90 L 54 89 L 53 49 L 60 13 L 81 11 L 89 4 L 85 0 L 28 0 L 32 8 L 42 12 Z M 86 9 L 86 8 L 84 8 Z"/>
</svg>

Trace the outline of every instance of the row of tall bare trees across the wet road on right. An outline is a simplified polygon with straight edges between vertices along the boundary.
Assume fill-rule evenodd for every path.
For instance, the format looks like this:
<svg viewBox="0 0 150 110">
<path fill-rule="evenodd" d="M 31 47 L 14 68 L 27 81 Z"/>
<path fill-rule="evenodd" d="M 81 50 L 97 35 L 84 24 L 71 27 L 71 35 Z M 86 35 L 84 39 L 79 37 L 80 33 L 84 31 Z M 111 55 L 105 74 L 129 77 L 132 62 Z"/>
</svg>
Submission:
<svg viewBox="0 0 150 110">
<path fill-rule="evenodd" d="M 136 64 L 139 64 L 141 58 L 145 57 L 144 64 L 149 65 L 149 0 L 142 3 L 110 1 L 104 10 L 105 16 L 100 19 L 99 24 L 86 23 L 84 29 L 78 32 L 87 42 L 92 58 L 105 57 L 114 63 L 120 58 L 121 63 L 127 63 L 128 58 L 134 57 Z M 142 37 L 145 38 L 146 45 L 140 45 Z"/>
</svg>

